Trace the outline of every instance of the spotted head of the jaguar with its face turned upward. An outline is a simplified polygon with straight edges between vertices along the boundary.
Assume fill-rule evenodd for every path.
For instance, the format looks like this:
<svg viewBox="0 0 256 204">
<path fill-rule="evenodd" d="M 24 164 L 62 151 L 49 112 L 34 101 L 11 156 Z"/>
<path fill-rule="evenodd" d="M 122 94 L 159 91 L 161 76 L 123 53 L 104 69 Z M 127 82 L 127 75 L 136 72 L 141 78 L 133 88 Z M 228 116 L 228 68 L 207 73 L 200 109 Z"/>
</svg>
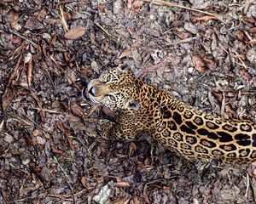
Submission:
<svg viewBox="0 0 256 204">
<path fill-rule="evenodd" d="M 92 102 L 113 111 L 138 111 L 139 83 L 130 70 L 118 66 L 103 71 L 100 77 L 91 80 L 87 92 Z"/>
</svg>

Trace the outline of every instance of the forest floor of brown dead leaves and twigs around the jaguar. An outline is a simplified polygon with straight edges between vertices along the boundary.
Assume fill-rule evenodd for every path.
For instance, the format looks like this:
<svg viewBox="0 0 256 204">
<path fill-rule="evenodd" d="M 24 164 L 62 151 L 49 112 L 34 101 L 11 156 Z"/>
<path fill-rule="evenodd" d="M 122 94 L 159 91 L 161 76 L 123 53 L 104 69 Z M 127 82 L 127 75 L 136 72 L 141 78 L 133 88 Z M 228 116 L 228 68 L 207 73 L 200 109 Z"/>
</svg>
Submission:
<svg viewBox="0 0 256 204">
<path fill-rule="evenodd" d="M 0 1 L 0 203 L 253 203 L 255 166 L 199 172 L 147 135 L 101 139 L 112 113 L 81 91 L 128 63 L 190 105 L 256 122 L 255 1 L 57 2 Z"/>
</svg>

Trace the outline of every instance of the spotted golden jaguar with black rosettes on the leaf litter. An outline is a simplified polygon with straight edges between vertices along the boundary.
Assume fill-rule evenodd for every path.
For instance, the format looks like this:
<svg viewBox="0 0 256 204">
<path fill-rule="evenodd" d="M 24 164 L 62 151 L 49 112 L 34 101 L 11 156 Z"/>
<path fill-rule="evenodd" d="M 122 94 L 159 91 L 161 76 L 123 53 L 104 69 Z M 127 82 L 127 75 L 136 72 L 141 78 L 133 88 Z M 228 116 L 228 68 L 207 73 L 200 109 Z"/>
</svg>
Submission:
<svg viewBox="0 0 256 204">
<path fill-rule="evenodd" d="M 144 132 L 189 161 L 256 161 L 256 123 L 198 110 L 121 65 L 91 80 L 87 94 L 93 103 L 118 111 L 116 122 L 103 119 L 97 124 L 104 139 L 133 139 Z"/>
</svg>

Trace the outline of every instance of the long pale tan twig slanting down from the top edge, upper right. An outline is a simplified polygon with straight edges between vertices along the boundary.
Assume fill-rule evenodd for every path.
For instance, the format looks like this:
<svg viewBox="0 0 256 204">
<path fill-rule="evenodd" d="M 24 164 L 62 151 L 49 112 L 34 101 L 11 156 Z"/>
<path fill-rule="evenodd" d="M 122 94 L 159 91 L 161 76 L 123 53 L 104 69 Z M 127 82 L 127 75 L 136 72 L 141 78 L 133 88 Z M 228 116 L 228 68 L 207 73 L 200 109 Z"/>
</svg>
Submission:
<svg viewBox="0 0 256 204">
<path fill-rule="evenodd" d="M 166 2 L 166 1 L 163 1 L 163 0 L 144 0 L 144 2 L 154 3 L 154 4 L 160 5 L 160 6 L 183 8 L 183 9 L 195 11 L 195 12 L 202 13 L 202 14 L 212 15 L 212 16 L 216 17 L 218 20 L 220 20 L 221 22 L 223 22 L 223 20 L 218 16 L 218 14 L 212 14 L 212 13 L 209 13 L 207 11 L 202 11 L 202 10 L 195 9 L 195 8 L 185 7 L 185 6 L 179 5 L 177 3 L 169 3 L 169 2 Z"/>
</svg>

